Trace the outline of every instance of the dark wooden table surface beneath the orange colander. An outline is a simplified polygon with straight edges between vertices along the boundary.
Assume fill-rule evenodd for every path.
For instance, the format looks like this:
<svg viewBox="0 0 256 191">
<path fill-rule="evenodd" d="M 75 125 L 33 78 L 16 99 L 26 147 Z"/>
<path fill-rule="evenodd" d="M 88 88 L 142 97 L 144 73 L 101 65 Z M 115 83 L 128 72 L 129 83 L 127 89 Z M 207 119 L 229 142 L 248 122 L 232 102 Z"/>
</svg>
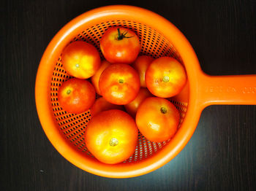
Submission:
<svg viewBox="0 0 256 191">
<path fill-rule="evenodd" d="M 72 18 L 106 4 L 132 4 L 166 17 L 187 36 L 208 74 L 256 74 L 255 0 L 0 4 L 0 190 L 255 190 L 256 106 L 209 106 L 170 163 L 143 176 L 108 179 L 80 170 L 54 149 L 34 101 L 37 67 L 50 39 Z"/>
</svg>

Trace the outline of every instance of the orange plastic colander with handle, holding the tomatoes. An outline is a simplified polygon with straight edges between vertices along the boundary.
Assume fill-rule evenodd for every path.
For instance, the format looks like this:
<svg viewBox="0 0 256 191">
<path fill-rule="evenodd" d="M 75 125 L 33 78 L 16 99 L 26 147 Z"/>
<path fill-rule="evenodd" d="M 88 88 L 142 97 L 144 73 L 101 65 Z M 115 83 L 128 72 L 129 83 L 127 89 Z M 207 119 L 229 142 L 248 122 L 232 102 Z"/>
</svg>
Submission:
<svg viewBox="0 0 256 191">
<path fill-rule="evenodd" d="M 116 165 L 100 163 L 85 146 L 83 134 L 91 118 L 90 111 L 69 114 L 61 109 L 57 99 L 60 85 L 69 79 L 61 64 L 64 47 L 83 40 L 99 50 L 99 39 L 110 26 L 131 28 L 140 37 L 140 54 L 176 58 L 184 64 L 188 76 L 184 90 L 170 98 L 181 112 L 181 122 L 173 139 L 157 143 L 139 135 L 134 155 Z M 206 106 L 256 104 L 256 75 L 208 76 L 201 71 L 185 36 L 164 17 L 139 7 L 108 6 L 76 17 L 54 36 L 39 63 L 35 98 L 42 128 L 61 155 L 92 174 L 125 178 L 154 171 L 178 155 L 194 133 Z"/>
</svg>

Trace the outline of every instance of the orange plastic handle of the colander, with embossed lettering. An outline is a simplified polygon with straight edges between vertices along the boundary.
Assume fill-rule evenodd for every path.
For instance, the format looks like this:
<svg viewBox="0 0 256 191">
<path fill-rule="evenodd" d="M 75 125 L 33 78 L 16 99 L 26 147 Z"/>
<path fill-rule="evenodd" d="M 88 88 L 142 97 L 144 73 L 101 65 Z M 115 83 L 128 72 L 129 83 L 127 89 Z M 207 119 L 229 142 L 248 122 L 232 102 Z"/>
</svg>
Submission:
<svg viewBox="0 0 256 191">
<path fill-rule="evenodd" d="M 256 105 L 256 74 L 238 76 L 199 75 L 197 95 L 203 107 Z"/>
</svg>

